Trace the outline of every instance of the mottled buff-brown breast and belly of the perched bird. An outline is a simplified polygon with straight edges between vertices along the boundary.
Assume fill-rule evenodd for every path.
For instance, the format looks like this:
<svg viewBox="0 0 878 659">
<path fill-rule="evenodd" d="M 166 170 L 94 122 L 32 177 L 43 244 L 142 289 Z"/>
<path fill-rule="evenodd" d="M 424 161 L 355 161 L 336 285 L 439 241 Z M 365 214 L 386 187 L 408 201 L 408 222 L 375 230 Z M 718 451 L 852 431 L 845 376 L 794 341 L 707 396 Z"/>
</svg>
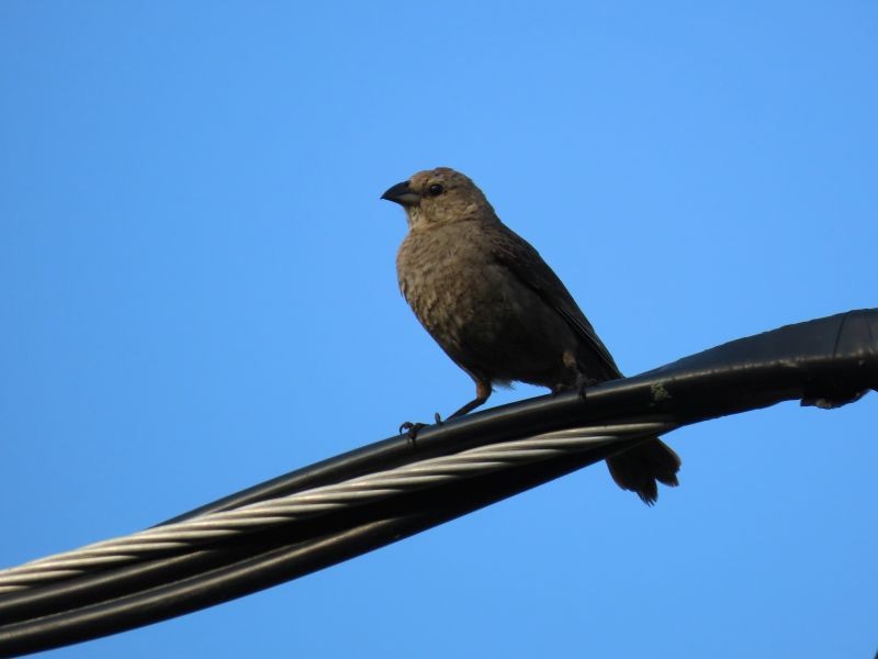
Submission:
<svg viewBox="0 0 878 659">
<path fill-rule="evenodd" d="M 576 354 L 575 334 L 536 290 L 493 257 L 477 231 L 410 232 L 399 247 L 396 270 L 415 315 L 470 373 L 549 387 L 575 379 L 565 358 Z"/>
</svg>

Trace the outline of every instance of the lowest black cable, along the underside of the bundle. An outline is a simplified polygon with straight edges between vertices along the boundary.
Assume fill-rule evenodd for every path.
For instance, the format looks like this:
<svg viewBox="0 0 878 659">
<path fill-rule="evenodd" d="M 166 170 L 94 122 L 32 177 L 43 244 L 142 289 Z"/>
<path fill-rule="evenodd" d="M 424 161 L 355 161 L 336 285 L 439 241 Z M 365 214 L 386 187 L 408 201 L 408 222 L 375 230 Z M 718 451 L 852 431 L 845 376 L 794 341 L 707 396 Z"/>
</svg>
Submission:
<svg viewBox="0 0 878 659">
<path fill-rule="evenodd" d="M 575 461 L 550 460 L 537 470 L 519 467 L 514 473 L 473 479 L 463 487 L 447 485 L 440 491 L 399 498 L 368 514 L 346 515 L 346 523 L 338 530 L 304 541 L 272 534 L 251 545 L 249 554 L 239 552 L 237 560 L 228 565 L 127 596 L 3 626 L 0 649 L 10 655 L 50 649 L 250 594 L 395 543 L 603 460 L 617 450 L 619 447 L 604 447 Z"/>
</svg>

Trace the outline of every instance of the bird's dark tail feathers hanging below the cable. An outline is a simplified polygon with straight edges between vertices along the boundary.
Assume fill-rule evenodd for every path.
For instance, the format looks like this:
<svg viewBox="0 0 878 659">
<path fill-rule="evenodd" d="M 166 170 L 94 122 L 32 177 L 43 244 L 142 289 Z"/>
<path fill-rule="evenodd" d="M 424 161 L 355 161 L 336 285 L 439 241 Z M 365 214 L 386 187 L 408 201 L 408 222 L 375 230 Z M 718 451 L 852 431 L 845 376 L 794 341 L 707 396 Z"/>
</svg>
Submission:
<svg viewBox="0 0 878 659">
<path fill-rule="evenodd" d="M 658 499 L 658 483 L 672 488 L 679 484 L 679 456 L 655 437 L 611 458 L 607 458 L 610 476 L 622 490 L 637 492 L 646 505 Z"/>
</svg>

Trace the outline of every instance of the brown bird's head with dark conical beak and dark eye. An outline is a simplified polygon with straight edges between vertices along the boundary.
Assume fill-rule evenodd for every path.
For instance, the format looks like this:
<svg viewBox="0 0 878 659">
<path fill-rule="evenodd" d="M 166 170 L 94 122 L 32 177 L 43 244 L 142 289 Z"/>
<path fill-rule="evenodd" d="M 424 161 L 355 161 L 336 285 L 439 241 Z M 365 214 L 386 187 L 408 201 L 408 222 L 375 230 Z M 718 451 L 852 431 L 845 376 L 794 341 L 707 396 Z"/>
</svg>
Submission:
<svg viewBox="0 0 878 659">
<path fill-rule="evenodd" d="M 494 217 L 494 209 L 475 183 L 448 167 L 418 171 L 390 188 L 381 199 L 405 209 L 409 228 Z"/>
</svg>

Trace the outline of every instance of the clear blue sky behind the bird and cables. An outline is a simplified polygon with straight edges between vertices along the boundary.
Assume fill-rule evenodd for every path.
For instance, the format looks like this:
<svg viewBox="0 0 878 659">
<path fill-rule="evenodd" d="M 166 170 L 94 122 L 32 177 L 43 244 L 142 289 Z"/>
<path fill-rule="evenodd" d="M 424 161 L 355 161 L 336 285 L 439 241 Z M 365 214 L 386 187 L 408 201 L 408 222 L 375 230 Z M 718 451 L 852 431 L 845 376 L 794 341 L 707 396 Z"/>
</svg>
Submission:
<svg viewBox="0 0 878 659">
<path fill-rule="evenodd" d="M 875 306 L 874 2 L 0 3 L 0 565 L 448 413 L 396 288 L 447 165 L 637 373 Z M 519 387 L 492 403 L 541 393 Z M 604 466 L 58 657 L 871 657 L 878 395 Z"/>
</svg>

